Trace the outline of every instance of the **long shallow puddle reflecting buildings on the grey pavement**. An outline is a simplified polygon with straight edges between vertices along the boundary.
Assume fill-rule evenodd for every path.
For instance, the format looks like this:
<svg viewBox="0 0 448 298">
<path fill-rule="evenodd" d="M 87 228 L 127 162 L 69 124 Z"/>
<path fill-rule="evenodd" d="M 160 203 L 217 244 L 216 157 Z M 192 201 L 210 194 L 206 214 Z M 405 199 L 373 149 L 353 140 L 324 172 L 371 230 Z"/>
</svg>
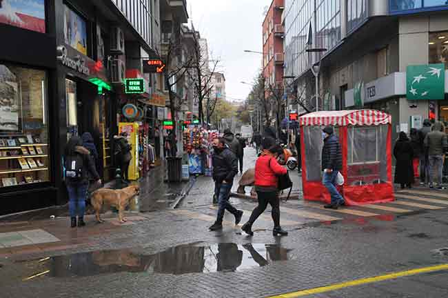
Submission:
<svg viewBox="0 0 448 298">
<path fill-rule="evenodd" d="M 99 250 L 74 255 L 17 261 L 26 267 L 23 281 L 42 277 L 88 277 L 114 272 L 183 275 L 241 271 L 293 259 L 291 250 L 276 244 L 232 243 L 183 245 L 155 255 L 127 250 Z"/>
</svg>

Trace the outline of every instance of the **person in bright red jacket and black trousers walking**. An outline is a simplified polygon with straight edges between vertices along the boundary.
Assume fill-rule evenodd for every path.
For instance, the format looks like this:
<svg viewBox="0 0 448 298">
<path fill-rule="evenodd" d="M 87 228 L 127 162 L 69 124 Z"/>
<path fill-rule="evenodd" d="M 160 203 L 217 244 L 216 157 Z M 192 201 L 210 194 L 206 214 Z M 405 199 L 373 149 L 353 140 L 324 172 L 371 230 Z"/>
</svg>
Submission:
<svg viewBox="0 0 448 298">
<path fill-rule="evenodd" d="M 254 187 L 258 199 L 258 206 L 252 211 L 249 221 L 245 223 L 241 230 L 247 235 L 254 235 L 252 225 L 258 217 L 265 212 L 267 204 L 272 207 L 272 221 L 274 221 L 274 236 L 287 236 L 288 232 L 280 226 L 280 199 L 278 198 L 278 176 L 285 175 L 287 170 L 277 162 L 278 152 L 282 151 L 280 146 L 276 146 L 275 140 L 269 137 L 263 139 L 263 152 L 255 163 Z M 264 149 L 269 148 L 269 149 Z"/>
</svg>

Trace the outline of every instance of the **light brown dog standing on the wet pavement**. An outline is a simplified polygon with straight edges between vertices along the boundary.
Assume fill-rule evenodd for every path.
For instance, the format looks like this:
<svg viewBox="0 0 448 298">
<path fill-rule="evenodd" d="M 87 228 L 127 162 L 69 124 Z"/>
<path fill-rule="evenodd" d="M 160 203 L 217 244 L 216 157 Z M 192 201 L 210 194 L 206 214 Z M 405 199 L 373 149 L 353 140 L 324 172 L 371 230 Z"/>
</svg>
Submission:
<svg viewBox="0 0 448 298">
<path fill-rule="evenodd" d="M 92 194 L 92 199 L 90 199 L 92 206 L 95 210 L 96 220 L 99 223 L 102 223 L 103 220 L 100 217 L 101 207 L 103 204 L 108 206 L 114 206 L 119 210 L 119 221 L 123 224 L 125 221 L 128 221 L 125 217 L 123 217 L 123 211 L 130 200 L 139 195 L 140 187 L 139 186 L 128 186 L 127 188 L 123 188 L 121 190 L 112 190 L 109 188 L 101 188 L 96 190 Z"/>
</svg>

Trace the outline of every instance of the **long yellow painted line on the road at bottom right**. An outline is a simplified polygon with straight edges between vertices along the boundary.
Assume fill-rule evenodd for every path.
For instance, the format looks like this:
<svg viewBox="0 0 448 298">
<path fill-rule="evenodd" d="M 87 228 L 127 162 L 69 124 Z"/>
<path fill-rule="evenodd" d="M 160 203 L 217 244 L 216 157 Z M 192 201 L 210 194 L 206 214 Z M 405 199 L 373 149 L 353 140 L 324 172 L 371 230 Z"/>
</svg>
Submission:
<svg viewBox="0 0 448 298">
<path fill-rule="evenodd" d="M 395 273 L 389 273 L 387 275 L 378 275 L 376 277 L 367 277 L 365 279 L 355 279 L 353 281 L 345 281 L 340 284 L 333 284 L 330 286 L 322 286 L 318 288 L 311 288 L 308 290 L 300 290 L 297 292 L 289 292 L 281 295 L 272 296 L 269 298 L 295 298 L 295 297 L 303 297 L 307 295 L 314 295 L 319 294 L 323 292 L 332 292 L 334 290 L 339 290 L 341 288 L 349 288 L 352 286 L 360 286 L 363 284 L 372 284 L 379 281 L 386 281 L 389 279 L 398 279 L 399 277 L 407 277 L 411 275 L 418 275 L 422 273 L 429 273 L 429 272 L 436 272 L 436 271 L 442 271 L 442 270 L 448 270 L 448 264 L 442 264 L 438 266 L 431 266 L 431 267 L 425 267 L 425 268 L 418 268 L 413 270 L 407 270 L 407 271 L 400 271 Z"/>
</svg>

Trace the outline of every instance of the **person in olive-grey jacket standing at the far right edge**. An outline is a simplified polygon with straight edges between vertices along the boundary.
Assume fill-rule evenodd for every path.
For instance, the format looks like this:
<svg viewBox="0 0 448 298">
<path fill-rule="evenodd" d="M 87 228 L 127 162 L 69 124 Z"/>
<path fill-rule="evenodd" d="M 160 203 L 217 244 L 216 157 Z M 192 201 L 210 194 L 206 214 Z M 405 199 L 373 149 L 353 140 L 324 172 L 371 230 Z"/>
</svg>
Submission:
<svg viewBox="0 0 448 298">
<path fill-rule="evenodd" d="M 437 179 L 438 189 L 442 186 L 443 155 L 448 150 L 447 134 L 440 121 L 436 121 L 425 138 L 425 146 L 428 149 L 429 159 L 429 188 L 434 188 L 434 180 Z"/>
</svg>

